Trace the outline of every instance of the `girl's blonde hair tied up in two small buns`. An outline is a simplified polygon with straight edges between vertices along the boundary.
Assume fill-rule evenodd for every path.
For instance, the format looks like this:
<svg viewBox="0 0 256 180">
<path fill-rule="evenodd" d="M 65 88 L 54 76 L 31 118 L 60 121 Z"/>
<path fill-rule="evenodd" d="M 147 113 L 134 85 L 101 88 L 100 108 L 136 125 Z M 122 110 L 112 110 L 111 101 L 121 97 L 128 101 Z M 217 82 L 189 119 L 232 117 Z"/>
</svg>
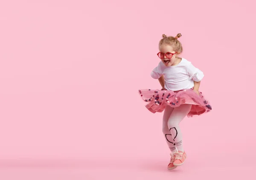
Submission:
<svg viewBox="0 0 256 180">
<path fill-rule="evenodd" d="M 173 50 L 175 52 L 182 52 L 183 48 L 182 45 L 180 43 L 180 41 L 178 40 L 179 37 L 181 37 L 181 34 L 177 34 L 176 37 L 173 36 L 166 36 L 165 34 L 162 35 L 162 39 L 159 41 L 159 47 L 163 44 L 165 45 L 170 45 L 172 46 Z"/>
</svg>

